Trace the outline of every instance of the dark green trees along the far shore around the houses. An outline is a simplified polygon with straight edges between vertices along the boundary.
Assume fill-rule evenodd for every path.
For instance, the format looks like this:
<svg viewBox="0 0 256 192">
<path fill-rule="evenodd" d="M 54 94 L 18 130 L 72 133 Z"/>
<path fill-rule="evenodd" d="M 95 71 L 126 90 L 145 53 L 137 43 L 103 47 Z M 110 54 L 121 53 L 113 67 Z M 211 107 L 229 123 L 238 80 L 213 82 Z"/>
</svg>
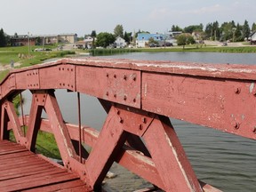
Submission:
<svg viewBox="0 0 256 192">
<path fill-rule="evenodd" d="M 244 20 L 244 25 L 240 25 L 239 23 L 235 23 L 234 20 L 229 22 L 224 22 L 221 25 L 216 20 L 214 22 L 208 23 L 205 28 L 201 23 L 199 25 L 190 25 L 186 28 L 180 28 L 178 25 L 172 25 L 171 31 L 182 31 L 183 33 L 192 34 L 193 32 L 199 33 L 201 40 L 209 39 L 213 41 L 232 41 L 239 42 L 244 41 L 250 37 L 252 31 L 256 31 L 255 22 L 252 23 L 252 27 L 250 28 L 248 21 Z M 138 33 L 149 33 L 148 31 L 137 31 L 135 32 L 126 32 L 124 31 L 123 25 L 116 25 L 114 28 L 114 33 L 108 32 L 100 32 L 98 35 L 96 30 L 92 30 L 93 39 L 97 39 L 97 41 L 93 40 L 92 46 L 102 46 L 107 47 L 109 44 L 114 44 L 116 37 L 120 36 L 124 38 L 125 42 L 128 44 L 134 44 Z M 17 33 L 15 33 L 17 35 Z M 190 38 L 189 42 L 192 41 Z M 10 44 L 10 36 L 7 36 L 4 33 L 4 29 L 0 30 L 0 47 L 4 47 Z"/>
</svg>

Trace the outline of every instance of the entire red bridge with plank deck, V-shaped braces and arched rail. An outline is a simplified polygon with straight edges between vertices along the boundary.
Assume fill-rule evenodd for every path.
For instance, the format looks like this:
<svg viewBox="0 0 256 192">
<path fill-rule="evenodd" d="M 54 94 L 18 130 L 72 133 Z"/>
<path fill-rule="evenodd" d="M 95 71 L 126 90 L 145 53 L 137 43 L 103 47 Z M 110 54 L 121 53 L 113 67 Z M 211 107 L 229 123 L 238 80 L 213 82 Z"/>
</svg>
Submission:
<svg viewBox="0 0 256 192">
<path fill-rule="evenodd" d="M 99 58 L 12 70 L 0 84 L 0 191 L 98 191 L 114 162 L 153 184 L 141 191 L 220 191 L 197 179 L 169 117 L 256 140 L 255 80 L 254 66 Z M 77 92 L 78 124 L 63 119 L 57 89 Z M 18 116 L 26 90 L 30 112 Z M 108 113 L 100 132 L 81 124 L 80 93 Z M 39 130 L 63 166 L 35 154 Z"/>
</svg>

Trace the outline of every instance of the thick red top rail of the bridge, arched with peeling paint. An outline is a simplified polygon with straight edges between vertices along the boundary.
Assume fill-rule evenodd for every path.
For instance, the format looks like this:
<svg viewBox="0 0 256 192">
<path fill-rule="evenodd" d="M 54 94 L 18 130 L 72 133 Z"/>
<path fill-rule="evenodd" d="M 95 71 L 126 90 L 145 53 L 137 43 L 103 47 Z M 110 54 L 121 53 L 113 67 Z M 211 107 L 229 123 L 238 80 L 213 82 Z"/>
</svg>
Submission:
<svg viewBox="0 0 256 192">
<path fill-rule="evenodd" d="M 242 65 L 59 60 L 13 71 L 0 90 L 4 98 L 15 90 L 68 89 L 256 140 L 255 74 Z"/>
</svg>

